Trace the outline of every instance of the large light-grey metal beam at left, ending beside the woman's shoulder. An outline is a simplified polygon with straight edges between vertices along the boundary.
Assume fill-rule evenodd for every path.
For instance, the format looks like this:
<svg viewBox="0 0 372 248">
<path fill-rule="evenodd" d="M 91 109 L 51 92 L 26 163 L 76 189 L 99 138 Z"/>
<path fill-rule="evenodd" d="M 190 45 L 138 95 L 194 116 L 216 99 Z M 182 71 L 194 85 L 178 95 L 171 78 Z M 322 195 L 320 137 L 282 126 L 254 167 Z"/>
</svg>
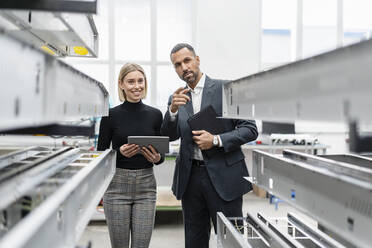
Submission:
<svg viewBox="0 0 372 248">
<path fill-rule="evenodd" d="M 108 114 L 102 83 L 1 33 L 0 53 L 0 131 Z"/>
</svg>

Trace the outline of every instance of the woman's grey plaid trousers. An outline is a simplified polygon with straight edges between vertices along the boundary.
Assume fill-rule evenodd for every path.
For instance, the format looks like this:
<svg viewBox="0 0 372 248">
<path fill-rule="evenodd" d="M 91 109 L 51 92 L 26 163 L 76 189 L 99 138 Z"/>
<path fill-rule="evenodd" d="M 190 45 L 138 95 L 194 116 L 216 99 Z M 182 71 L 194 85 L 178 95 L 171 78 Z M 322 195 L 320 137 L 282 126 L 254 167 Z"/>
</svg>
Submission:
<svg viewBox="0 0 372 248">
<path fill-rule="evenodd" d="M 149 247 L 155 220 L 156 180 L 153 168 L 116 168 L 103 207 L 111 247 Z"/>
</svg>

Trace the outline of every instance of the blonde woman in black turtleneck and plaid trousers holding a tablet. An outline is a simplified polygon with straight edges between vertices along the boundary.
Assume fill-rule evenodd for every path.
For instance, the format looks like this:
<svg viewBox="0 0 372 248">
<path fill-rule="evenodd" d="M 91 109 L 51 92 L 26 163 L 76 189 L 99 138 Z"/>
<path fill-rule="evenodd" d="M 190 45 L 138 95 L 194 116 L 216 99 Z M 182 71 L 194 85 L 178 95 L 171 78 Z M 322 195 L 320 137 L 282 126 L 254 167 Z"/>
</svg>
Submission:
<svg viewBox="0 0 372 248">
<path fill-rule="evenodd" d="M 112 248 L 149 247 L 155 218 L 156 181 L 154 164 L 164 155 L 153 147 L 128 144 L 131 135 L 160 135 L 160 110 L 142 102 L 147 79 L 140 65 L 127 63 L 119 74 L 119 98 L 123 103 L 110 109 L 100 124 L 97 150 L 117 151 L 116 173 L 104 197 L 103 207 Z"/>
</svg>

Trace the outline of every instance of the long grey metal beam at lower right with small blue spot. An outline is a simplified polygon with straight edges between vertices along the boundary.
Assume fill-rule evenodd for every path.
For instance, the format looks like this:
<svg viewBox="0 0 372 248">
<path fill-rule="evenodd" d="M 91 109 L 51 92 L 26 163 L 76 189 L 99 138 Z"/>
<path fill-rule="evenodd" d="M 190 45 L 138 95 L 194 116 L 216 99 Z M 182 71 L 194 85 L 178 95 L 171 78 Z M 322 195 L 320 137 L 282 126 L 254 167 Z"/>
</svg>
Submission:
<svg viewBox="0 0 372 248">
<path fill-rule="evenodd" d="M 309 214 L 358 247 L 372 243 L 372 170 L 285 151 L 253 152 L 252 177 L 271 194 Z"/>
</svg>

